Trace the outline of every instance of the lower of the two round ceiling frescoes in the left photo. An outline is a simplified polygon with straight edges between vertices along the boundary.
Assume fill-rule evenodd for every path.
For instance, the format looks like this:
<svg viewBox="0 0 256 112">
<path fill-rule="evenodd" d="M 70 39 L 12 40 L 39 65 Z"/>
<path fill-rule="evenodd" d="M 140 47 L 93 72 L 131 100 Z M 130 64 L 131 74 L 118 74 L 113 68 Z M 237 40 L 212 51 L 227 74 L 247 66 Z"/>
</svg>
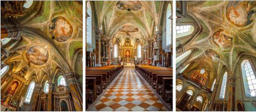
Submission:
<svg viewBox="0 0 256 112">
<path fill-rule="evenodd" d="M 49 53 L 46 46 L 34 45 L 26 52 L 29 63 L 34 65 L 44 65 L 47 63 Z"/>
</svg>

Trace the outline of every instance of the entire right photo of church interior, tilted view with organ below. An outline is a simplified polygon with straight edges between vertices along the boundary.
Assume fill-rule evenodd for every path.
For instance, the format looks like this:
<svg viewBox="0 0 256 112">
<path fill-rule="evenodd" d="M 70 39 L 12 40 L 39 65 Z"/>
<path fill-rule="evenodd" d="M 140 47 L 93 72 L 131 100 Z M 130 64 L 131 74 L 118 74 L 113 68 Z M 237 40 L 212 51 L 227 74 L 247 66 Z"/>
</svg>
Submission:
<svg viewBox="0 0 256 112">
<path fill-rule="evenodd" d="M 176 2 L 177 111 L 256 111 L 255 5 Z"/>
</svg>

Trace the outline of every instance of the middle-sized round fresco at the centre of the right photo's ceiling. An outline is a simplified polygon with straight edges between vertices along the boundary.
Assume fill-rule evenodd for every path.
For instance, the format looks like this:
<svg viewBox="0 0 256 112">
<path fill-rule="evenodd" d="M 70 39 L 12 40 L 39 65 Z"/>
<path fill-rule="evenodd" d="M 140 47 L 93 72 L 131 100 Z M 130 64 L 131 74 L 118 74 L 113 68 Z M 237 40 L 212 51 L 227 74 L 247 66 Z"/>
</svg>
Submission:
<svg viewBox="0 0 256 112">
<path fill-rule="evenodd" d="M 212 35 L 214 43 L 221 47 L 221 49 L 230 48 L 233 44 L 233 38 L 228 36 L 224 30 L 218 30 Z"/>
</svg>

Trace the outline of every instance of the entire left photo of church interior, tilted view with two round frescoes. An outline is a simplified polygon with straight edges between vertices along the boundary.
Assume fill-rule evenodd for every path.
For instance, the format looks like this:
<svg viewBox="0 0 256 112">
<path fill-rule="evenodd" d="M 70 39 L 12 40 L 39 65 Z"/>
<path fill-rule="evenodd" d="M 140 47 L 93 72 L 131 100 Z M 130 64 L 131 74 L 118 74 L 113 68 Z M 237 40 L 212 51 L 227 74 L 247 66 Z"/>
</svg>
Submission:
<svg viewBox="0 0 256 112">
<path fill-rule="evenodd" d="M 82 1 L 1 1 L 1 111 L 82 111 Z"/>
</svg>

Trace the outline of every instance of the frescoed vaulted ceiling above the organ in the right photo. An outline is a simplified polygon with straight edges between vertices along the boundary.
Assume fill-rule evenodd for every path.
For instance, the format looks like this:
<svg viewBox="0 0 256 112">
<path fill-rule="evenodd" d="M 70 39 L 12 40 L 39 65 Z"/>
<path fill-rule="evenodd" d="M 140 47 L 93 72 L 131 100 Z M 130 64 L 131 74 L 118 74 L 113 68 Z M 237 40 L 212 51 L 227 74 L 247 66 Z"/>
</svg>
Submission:
<svg viewBox="0 0 256 112">
<path fill-rule="evenodd" d="M 194 50 L 186 64 L 208 64 L 213 81 L 223 67 L 233 73 L 244 55 L 256 57 L 255 1 L 188 1 L 187 8 L 187 21 L 197 27 L 193 35 L 177 40 L 185 51 Z"/>
</svg>

